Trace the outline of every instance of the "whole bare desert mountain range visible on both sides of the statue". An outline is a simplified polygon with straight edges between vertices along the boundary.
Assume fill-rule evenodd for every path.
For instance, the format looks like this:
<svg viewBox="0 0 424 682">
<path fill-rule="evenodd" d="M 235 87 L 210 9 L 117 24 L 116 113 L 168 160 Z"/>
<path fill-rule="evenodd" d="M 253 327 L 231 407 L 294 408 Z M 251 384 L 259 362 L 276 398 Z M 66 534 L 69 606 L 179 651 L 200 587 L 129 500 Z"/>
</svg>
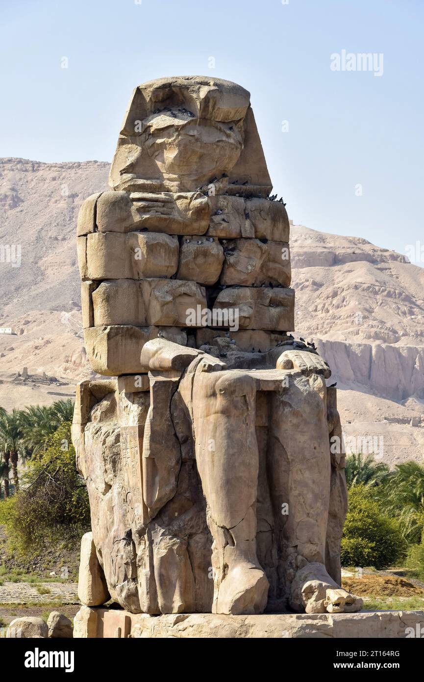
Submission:
<svg viewBox="0 0 424 682">
<path fill-rule="evenodd" d="M 90 376 L 76 217 L 84 198 L 106 189 L 108 169 L 97 161 L 0 160 L 0 327 L 16 331 L 0 334 L 7 409 L 72 395 L 76 381 Z M 421 458 L 424 269 L 366 239 L 300 225 L 292 226 L 290 250 L 296 336 L 314 339 L 333 369 L 346 436 L 363 451 L 369 445 L 359 439 L 372 437 L 375 446 L 383 437 L 389 462 Z M 25 381 L 17 376 L 24 366 Z"/>
</svg>

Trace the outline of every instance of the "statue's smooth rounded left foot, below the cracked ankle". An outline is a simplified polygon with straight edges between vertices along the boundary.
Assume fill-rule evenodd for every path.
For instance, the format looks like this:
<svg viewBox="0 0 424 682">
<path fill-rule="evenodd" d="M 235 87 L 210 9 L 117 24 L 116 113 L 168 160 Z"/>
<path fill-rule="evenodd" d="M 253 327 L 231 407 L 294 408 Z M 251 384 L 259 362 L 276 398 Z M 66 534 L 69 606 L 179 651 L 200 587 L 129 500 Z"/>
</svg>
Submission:
<svg viewBox="0 0 424 682">
<path fill-rule="evenodd" d="M 239 563 L 230 568 L 219 585 L 216 612 L 233 616 L 263 613 L 269 582 L 262 569 Z"/>
</svg>

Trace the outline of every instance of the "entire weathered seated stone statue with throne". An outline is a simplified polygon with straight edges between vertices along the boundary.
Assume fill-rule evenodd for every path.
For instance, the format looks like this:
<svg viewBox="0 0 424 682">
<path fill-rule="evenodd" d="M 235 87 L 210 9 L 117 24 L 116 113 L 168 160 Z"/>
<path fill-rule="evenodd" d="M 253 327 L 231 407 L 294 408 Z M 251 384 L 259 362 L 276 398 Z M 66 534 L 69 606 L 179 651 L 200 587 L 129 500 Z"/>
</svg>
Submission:
<svg viewBox="0 0 424 682">
<path fill-rule="evenodd" d="M 76 396 L 82 603 L 359 610 L 340 587 L 336 389 L 290 333 L 290 225 L 249 93 L 200 76 L 140 85 L 109 184 L 78 217 L 85 348 L 108 377 Z"/>
</svg>

